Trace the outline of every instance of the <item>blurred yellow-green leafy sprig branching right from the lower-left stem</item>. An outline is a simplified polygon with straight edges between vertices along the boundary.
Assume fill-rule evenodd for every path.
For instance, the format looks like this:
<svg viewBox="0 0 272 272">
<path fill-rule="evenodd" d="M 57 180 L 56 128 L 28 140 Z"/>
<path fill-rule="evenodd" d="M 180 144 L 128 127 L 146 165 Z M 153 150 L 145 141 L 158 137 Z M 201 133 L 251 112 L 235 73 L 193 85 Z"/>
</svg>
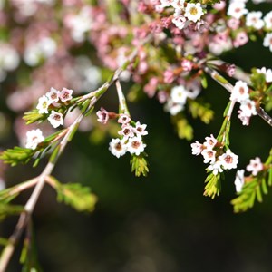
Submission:
<svg viewBox="0 0 272 272">
<path fill-rule="evenodd" d="M 80 183 L 62 184 L 52 177 L 50 179 L 50 184 L 56 190 L 59 202 L 63 202 L 77 211 L 91 212 L 94 209 L 97 198 L 91 193 L 89 187 L 83 187 Z"/>
</svg>

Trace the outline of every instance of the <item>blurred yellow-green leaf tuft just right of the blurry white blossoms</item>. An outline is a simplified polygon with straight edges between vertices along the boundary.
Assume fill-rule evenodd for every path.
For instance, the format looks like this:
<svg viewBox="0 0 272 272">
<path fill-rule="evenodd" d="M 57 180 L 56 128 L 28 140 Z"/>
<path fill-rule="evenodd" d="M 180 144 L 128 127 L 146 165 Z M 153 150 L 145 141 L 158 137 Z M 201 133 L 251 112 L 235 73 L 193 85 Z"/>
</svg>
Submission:
<svg viewBox="0 0 272 272">
<path fill-rule="evenodd" d="M 201 121 L 207 124 L 213 119 L 214 115 L 209 103 L 202 102 L 199 99 L 189 100 L 189 112 L 193 118 L 199 117 Z"/>
</svg>

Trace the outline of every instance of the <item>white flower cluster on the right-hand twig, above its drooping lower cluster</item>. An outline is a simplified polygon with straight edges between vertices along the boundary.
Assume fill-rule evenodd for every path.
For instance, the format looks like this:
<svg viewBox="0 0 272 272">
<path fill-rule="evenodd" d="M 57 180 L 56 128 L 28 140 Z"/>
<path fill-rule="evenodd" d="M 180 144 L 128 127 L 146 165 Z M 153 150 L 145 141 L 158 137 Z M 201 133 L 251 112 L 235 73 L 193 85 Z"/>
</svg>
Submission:
<svg viewBox="0 0 272 272">
<path fill-rule="evenodd" d="M 255 102 L 249 99 L 248 84 L 242 81 L 236 82 L 231 92 L 230 100 L 240 103 L 238 118 L 243 125 L 248 126 L 250 117 L 257 115 Z"/>
</svg>

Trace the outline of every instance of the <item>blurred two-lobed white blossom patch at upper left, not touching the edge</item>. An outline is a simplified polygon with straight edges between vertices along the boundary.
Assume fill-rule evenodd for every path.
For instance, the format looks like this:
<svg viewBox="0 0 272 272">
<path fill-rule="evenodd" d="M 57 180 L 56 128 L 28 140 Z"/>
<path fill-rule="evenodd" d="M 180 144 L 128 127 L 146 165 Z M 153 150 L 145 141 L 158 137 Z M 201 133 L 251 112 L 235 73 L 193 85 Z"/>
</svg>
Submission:
<svg viewBox="0 0 272 272">
<path fill-rule="evenodd" d="M 43 37 L 36 43 L 29 44 L 24 51 L 24 62 L 29 66 L 39 64 L 43 59 L 53 56 L 57 44 L 51 37 Z"/>
</svg>

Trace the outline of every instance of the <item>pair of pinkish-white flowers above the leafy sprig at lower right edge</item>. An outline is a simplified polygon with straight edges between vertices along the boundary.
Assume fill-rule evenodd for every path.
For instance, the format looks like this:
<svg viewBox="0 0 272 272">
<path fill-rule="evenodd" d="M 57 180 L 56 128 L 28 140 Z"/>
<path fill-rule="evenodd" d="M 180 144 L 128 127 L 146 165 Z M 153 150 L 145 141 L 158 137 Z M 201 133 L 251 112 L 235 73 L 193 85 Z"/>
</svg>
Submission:
<svg viewBox="0 0 272 272">
<path fill-rule="evenodd" d="M 246 169 L 248 172 L 251 172 L 252 176 L 256 177 L 257 174 L 264 169 L 264 165 L 260 158 L 256 157 L 255 159 L 250 160 Z M 242 191 L 245 184 L 245 179 L 245 170 L 238 170 L 234 180 L 235 189 L 237 192 Z"/>
</svg>

